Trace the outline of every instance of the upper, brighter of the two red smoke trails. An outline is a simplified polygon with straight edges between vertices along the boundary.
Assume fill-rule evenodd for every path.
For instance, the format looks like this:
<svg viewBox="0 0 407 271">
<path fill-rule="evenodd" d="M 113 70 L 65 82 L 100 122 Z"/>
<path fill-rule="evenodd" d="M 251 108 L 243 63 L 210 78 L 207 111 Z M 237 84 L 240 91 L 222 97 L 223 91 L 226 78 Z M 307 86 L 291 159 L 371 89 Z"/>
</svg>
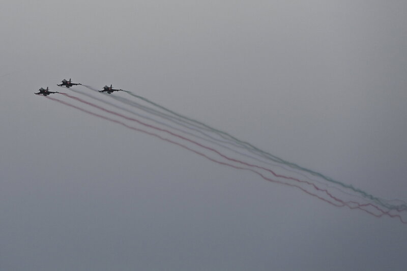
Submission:
<svg viewBox="0 0 407 271">
<path fill-rule="evenodd" d="M 184 137 L 184 136 L 181 136 L 181 135 L 172 133 L 172 132 L 170 132 L 170 131 L 168 131 L 168 130 L 161 129 L 161 128 L 156 127 L 156 126 L 153 126 L 153 125 L 149 125 L 149 124 L 147 124 L 147 123 L 143 123 L 143 122 L 139 121 L 138 119 L 135 119 L 135 118 L 132 118 L 132 117 L 128 117 L 128 116 L 125 116 L 125 115 L 123 115 L 123 114 L 120 114 L 120 113 L 117 113 L 117 112 L 114 112 L 114 111 L 105 109 L 105 108 L 103 108 L 103 107 L 101 107 L 101 106 L 98 106 L 98 105 L 93 104 L 93 103 L 91 103 L 91 102 L 85 101 L 85 100 L 80 99 L 80 98 L 78 98 L 78 97 L 71 96 L 71 95 L 65 94 L 65 93 L 64 93 L 63 95 L 65 95 L 65 96 L 67 96 L 67 97 L 69 97 L 69 98 L 71 98 L 71 99 L 77 100 L 77 101 L 79 101 L 79 102 L 81 102 L 81 103 L 88 104 L 88 105 L 90 105 L 90 106 L 93 106 L 93 107 L 95 107 L 95 108 L 98 108 L 98 109 L 100 109 L 100 110 L 102 110 L 102 111 L 105 111 L 105 112 L 111 113 L 111 114 L 113 114 L 113 115 L 117 115 L 117 116 L 123 117 L 123 118 L 125 118 L 125 119 L 128 119 L 129 121 L 134 121 L 134 122 L 137 122 L 137 123 L 139 123 L 139 124 L 141 124 L 141 125 L 143 125 L 143 126 L 147 126 L 147 127 L 149 127 L 149 128 L 155 129 L 155 130 L 159 130 L 159 131 L 162 131 L 162 132 L 166 132 L 166 133 L 168 133 L 168 134 L 170 134 L 170 135 L 172 135 L 172 136 L 181 138 L 181 139 L 186 140 L 186 141 L 188 141 L 188 142 L 191 142 L 191 143 L 193 143 L 193 144 L 195 144 L 195 145 L 198 145 L 198 146 L 203 147 L 203 148 L 205 148 L 205 149 L 211 150 L 212 152 L 218 154 L 219 156 L 221 156 L 221 157 L 223 157 L 223 158 L 225 158 L 225 159 L 227 159 L 227 160 L 229 160 L 229 161 L 233 161 L 233 162 L 236 162 L 236 163 L 239 163 L 239 164 L 242 164 L 242 165 L 245 165 L 245 166 L 249 166 L 249 167 L 254 167 L 254 168 L 259 168 L 259 169 L 266 170 L 266 171 L 272 173 L 272 174 L 273 174 L 274 176 L 276 176 L 276 177 L 281 177 L 281 178 L 284 178 L 284 179 L 295 180 L 296 182 L 307 184 L 307 185 L 309 185 L 309 186 L 312 186 L 312 187 L 313 187 L 315 190 L 317 190 L 317 191 L 321 191 L 321 192 L 326 193 L 326 194 L 327 194 L 329 197 L 331 197 L 332 199 L 334 199 L 334 200 L 336 200 L 336 201 L 338 201 L 338 202 L 344 203 L 342 200 L 340 200 L 339 198 L 333 196 L 330 192 L 328 192 L 328 190 L 326 190 L 326 189 L 321 189 L 321 188 L 317 187 L 315 184 L 310 183 L 310 182 L 308 182 L 308 181 L 306 181 L 306 180 L 300 180 L 300 179 L 297 179 L 297 178 L 287 177 L 287 176 L 284 176 L 284 175 L 280 175 L 280 174 L 275 173 L 275 172 L 274 172 L 273 170 L 271 170 L 271 169 L 268 169 L 268 168 L 265 168 L 265 167 L 260 167 L 260 166 L 257 166 L 257 165 L 252 165 L 252 164 L 249 164 L 249 163 L 246 163 L 246 162 L 242 162 L 242 161 L 240 161 L 240 160 L 236 160 L 236 159 L 227 157 L 227 156 L 221 154 L 220 152 L 218 152 L 218 150 L 216 150 L 216 149 L 214 149 L 214 148 L 211 148 L 211 147 L 202 145 L 202 144 L 200 144 L 200 143 L 198 143 L 198 142 L 196 142 L 196 141 L 193 141 L 193 140 L 191 140 L 191 139 L 188 139 L 188 138 L 186 138 L 186 137 Z M 372 206 L 373 208 L 379 210 L 379 212 L 381 212 L 381 213 L 387 213 L 385 210 L 383 210 L 383 209 L 379 208 L 378 206 L 376 206 L 376 205 L 374 205 L 374 204 L 371 204 L 371 203 L 360 204 L 360 203 L 355 202 L 355 201 L 348 201 L 347 203 L 354 203 L 354 204 L 357 204 L 358 206 Z M 388 212 L 390 212 L 390 211 L 388 211 Z"/>
</svg>

